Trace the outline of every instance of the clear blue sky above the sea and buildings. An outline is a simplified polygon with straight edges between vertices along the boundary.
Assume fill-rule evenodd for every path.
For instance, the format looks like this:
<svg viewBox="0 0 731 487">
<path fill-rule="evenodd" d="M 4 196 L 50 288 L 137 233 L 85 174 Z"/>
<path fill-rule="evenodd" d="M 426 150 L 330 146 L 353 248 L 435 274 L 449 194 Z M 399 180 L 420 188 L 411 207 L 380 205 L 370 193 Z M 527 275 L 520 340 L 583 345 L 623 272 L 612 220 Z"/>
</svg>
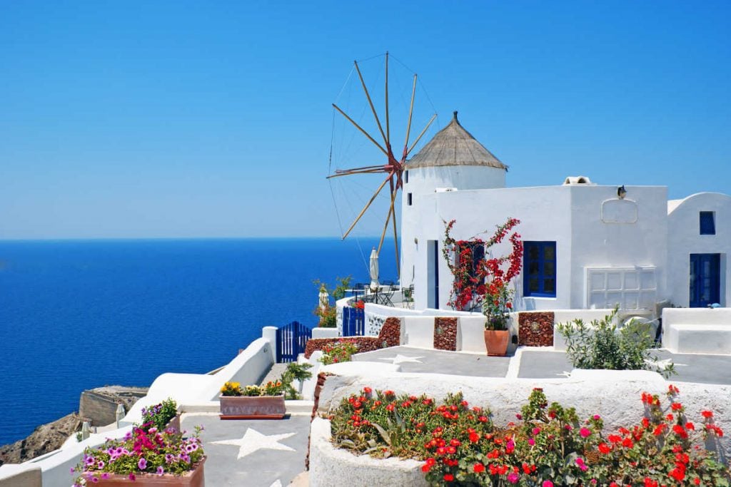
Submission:
<svg viewBox="0 0 731 487">
<path fill-rule="evenodd" d="M 2 1 L 0 238 L 337 235 L 330 103 L 386 50 L 510 186 L 731 193 L 730 25 L 727 1 Z"/>
</svg>

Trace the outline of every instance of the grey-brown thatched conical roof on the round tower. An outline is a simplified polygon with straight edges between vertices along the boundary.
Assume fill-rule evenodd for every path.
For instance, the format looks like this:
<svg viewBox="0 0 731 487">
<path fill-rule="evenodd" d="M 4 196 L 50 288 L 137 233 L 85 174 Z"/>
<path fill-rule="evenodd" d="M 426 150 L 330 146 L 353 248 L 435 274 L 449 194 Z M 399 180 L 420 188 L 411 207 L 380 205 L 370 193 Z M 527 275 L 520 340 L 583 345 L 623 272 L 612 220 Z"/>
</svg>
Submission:
<svg viewBox="0 0 731 487">
<path fill-rule="evenodd" d="M 457 112 L 452 121 L 406 163 L 406 169 L 436 166 L 488 166 L 507 171 L 505 164 L 460 125 Z"/>
</svg>

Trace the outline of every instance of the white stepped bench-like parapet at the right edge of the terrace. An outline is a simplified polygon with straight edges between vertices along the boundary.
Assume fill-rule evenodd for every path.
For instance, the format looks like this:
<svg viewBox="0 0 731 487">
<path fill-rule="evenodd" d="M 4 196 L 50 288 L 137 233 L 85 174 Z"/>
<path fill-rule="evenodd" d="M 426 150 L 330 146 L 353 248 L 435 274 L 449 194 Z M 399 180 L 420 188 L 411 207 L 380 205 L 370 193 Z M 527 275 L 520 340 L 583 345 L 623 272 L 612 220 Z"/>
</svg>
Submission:
<svg viewBox="0 0 731 487">
<path fill-rule="evenodd" d="M 665 308 L 662 346 L 673 353 L 731 354 L 731 308 Z"/>
</svg>

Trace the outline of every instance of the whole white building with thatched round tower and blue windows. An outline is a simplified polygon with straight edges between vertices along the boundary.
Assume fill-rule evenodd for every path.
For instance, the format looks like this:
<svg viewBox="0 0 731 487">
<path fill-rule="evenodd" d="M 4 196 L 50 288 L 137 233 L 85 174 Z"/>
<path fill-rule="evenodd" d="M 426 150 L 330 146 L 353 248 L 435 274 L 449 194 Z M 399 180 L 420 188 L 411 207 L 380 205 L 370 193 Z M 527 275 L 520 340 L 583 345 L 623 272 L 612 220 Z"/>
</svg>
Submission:
<svg viewBox="0 0 731 487">
<path fill-rule="evenodd" d="M 731 302 L 731 197 L 700 193 L 667 200 L 664 186 L 563 184 L 506 188 L 507 166 L 457 120 L 407 164 L 401 215 L 401 283 L 414 284 L 417 309 L 448 307 L 452 275 L 442 257 L 444 222 L 452 236 L 489 237 L 518 218 L 523 269 L 517 310 L 613 307 L 648 310 L 670 302 Z M 483 233 L 486 231 L 486 234 Z M 507 243 L 494 249 L 509 252 Z"/>
</svg>

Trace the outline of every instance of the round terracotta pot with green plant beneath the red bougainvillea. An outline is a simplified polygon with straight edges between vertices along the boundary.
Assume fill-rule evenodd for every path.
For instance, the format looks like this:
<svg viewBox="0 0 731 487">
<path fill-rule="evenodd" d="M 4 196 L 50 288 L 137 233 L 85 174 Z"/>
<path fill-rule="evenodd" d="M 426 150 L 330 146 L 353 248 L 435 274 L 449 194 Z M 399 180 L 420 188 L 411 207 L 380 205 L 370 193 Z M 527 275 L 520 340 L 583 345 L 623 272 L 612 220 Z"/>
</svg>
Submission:
<svg viewBox="0 0 731 487">
<path fill-rule="evenodd" d="M 512 309 L 512 289 L 500 279 L 488 285 L 485 299 L 482 300 L 482 313 L 485 315 L 485 349 L 488 356 L 505 356 L 510 332 L 507 330 Z"/>
</svg>

